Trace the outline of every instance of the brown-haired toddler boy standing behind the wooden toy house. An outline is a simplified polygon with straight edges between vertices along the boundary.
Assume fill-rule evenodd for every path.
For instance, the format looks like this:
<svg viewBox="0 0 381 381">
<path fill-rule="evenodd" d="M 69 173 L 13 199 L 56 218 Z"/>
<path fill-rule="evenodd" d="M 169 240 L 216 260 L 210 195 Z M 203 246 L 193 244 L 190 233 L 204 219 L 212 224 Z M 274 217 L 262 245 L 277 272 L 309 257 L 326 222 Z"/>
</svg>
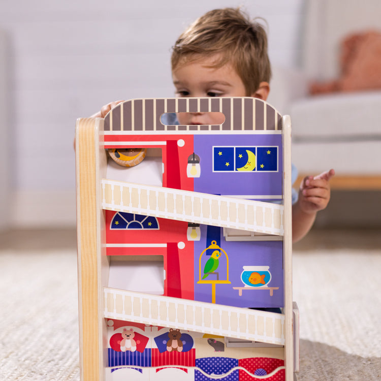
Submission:
<svg viewBox="0 0 381 381">
<path fill-rule="evenodd" d="M 177 97 L 254 97 L 266 101 L 271 67 L 267 35 L 262 25 L 240 9 L 207 12 L 177 39 L 171 57 Z M 121 101 L 102 107 L 93 116 L 104 117 Z M 220 113 L 179 113 L 166 124 L 220 124 Z M 319 210 L 330 199 L 329 179 L 334 170 L 303 179 L 293 200 L 293 241 L 311 229 Z M 296 177 L 296 173 L 293 174 Z"/>
</svg>

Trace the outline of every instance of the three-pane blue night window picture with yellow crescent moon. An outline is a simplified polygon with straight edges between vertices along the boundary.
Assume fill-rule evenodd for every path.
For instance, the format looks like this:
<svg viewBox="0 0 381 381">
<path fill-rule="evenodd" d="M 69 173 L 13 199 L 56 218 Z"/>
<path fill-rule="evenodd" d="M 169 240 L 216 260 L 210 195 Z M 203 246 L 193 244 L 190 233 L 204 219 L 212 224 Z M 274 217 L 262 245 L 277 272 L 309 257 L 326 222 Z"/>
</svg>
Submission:
<svg viewBox="0 0 381 381">
<path fill-rule="evenodd" d="M 213 147 L 213 172 L 277 172 L 277 146 Z"/>
</svg>

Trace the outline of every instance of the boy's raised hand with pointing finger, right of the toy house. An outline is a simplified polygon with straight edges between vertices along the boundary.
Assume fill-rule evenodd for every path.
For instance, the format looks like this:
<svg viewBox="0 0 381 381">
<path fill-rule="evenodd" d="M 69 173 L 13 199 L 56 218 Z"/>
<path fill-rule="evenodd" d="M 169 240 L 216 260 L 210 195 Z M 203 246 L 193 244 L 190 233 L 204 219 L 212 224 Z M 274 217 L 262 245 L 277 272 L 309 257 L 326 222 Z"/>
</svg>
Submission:
<svg viewBox="0 0 381 381">
<path fill-rule="evenodd" d="M 303 179 L 299 189 L 300 209 L 305 213 L 316 213 L 327 207 L 331 197 L 330 178 L 335 174 L 333 169 L 315 177 Z"/>
</svg>

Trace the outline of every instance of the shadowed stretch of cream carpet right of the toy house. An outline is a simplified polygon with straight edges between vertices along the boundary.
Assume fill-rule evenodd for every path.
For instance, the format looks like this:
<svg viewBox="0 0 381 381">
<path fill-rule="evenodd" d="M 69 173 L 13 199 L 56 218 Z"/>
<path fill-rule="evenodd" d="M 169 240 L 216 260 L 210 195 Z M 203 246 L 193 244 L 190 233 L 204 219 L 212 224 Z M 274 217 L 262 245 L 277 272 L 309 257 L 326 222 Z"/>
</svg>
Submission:
<svg viewBox="0 0 381 381">
<path fill-rule="evenodd" d="M 381 380 L 381 250 L 294 252 L 300 381 Z"/>
</svg>

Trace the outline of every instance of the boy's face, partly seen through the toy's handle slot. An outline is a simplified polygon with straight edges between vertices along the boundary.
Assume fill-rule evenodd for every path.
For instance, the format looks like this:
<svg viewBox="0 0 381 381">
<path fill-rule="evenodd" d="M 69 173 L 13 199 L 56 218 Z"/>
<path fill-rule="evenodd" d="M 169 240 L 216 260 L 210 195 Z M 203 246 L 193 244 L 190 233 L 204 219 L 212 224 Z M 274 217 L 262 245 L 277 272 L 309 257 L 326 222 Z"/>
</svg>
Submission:
<svg viewBox="0 0 381 381">
<path fill-rule="evenodd" d="M 245 86 L 230 63 L 211 68 L 215 57 L 183 63 L 172 72 L 176 96 L 246 97 Z M 219 112 L 178 113 L 180 124 L 221 124 L 225 116 Z"/>
</svg>

